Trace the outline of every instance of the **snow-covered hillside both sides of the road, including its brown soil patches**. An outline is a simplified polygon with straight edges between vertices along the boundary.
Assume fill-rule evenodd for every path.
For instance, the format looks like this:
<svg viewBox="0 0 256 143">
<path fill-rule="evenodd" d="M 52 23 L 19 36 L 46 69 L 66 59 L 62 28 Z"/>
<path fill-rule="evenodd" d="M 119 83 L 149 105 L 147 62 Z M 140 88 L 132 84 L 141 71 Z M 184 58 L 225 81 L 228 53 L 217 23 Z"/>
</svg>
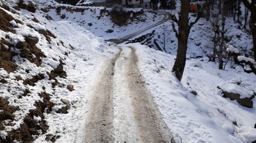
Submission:
<svg viewBox="0 0 256 143">
<path fill-rule="evenodd" d="M 121 38 L 163 17 L 135 9 L 140 14 L 131 15 L 126 26 L 118 26 L 107 13 L 110 9 L 104 7 L 73 7 L 50 0 L 23 4 L 8 0 L 0 5 L 1 142 L 83 142 L 91 82 L 104 60 L 118 51 L 103 39 Z M 141 74 L 169 130 L 183 142 L 255 141 L 255 105 L 243 107 L 224 98 L 221 90 L 253 97 L 255 74 L 245 73 L 233 63 L 218 70 L 209 61 L 210 50 L 204 48 L 209 45 L 209 23 L 201 19 L 191 29 L 191 58 L 180 83 L 171 72 L 177 41 L 172 30 L 165 28 L 170 23 L 137 36 L 155 30 L 153 38 L 163 43 L 162 33 L 168 32 L 168 54 L 139 43 L 125 45 L 136 48 Z M 230 44 L 246 51 L 251 39 L 234 23 L 228 24 L 233 36 Z M 36 42 L 32 44 L 28 37 Z M 21 54 L 24 48 L 30 53 Z M 73 85 L 74 91 L 67 85 Z M 255 98 L 252 102 L 255 104 Z"/>
</svg>

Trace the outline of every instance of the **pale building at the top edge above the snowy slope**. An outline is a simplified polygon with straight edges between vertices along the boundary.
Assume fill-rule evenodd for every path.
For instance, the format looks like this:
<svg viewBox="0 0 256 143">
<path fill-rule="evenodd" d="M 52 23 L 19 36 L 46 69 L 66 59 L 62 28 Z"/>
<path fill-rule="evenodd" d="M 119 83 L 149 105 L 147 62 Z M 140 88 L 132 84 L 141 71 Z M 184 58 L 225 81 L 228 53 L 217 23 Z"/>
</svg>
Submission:
<svg viewBox="0 0 256 143">
<path fill-rule="evenodd" d="M 151 8 L 150 0 L 122 0 L 122 5 L 132 8 Z"/>
</svg>

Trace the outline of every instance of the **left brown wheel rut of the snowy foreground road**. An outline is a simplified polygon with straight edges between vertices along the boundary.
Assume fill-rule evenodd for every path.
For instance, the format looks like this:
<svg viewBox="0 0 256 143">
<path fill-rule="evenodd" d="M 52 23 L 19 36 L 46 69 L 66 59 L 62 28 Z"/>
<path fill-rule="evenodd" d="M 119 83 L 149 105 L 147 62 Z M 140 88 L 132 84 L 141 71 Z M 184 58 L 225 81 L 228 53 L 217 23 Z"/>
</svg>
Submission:
<svg viewBox="0 0 256 143">
<path fill-rule="evenodd" d="M 85 123 L 85 142 L 113 142 L 113 75 L 120 53 L 105 61 L 92 86 L 91 108 Z"/>
</svg>

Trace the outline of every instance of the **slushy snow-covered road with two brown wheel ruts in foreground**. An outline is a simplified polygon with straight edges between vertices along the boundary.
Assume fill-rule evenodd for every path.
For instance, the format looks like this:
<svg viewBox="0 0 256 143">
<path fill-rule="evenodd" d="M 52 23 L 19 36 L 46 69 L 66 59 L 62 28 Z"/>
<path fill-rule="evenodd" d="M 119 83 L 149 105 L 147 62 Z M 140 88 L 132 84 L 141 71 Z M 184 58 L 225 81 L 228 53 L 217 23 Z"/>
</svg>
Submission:
<svg viewBox="0 0 256 143">
<path fill-rule="evenodd" d="M 92 86 L 85 142 L 170 142 L 171 133 L 138 70 L 135 49 L 120 49 L 105 61 Z"/>
</svg>

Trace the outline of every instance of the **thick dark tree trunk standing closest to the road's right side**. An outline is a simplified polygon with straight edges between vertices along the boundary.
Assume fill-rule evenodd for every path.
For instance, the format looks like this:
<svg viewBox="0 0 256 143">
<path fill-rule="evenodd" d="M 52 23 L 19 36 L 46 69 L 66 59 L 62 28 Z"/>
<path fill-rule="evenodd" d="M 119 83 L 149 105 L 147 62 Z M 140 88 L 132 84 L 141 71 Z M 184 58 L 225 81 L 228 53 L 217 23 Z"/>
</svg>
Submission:
<svg viewBox="0 0 256 143">
<path fill-rule="evenodd" d="M 177 79 L 181 80 L 186 64 L 186 49 L 188 46 L 188 14 L 189 4 L 191 0 L 181 0 L 180 16 L 179 16 L 179 35 L 177 57 L 173 66 L 173 72 Z"/>
</svg>

